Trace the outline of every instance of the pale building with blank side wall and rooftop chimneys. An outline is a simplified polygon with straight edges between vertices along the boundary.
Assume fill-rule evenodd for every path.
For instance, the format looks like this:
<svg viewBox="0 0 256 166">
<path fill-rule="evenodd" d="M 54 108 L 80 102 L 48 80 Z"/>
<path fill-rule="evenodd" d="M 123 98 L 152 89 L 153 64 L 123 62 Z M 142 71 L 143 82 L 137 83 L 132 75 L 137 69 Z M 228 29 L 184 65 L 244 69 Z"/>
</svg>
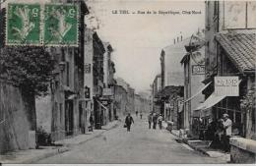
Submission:
<svg viewBox="0 0 256 166">
<path fill-rule="evenodd" d="M 184 71 L 182 66 L 180 65 L 180 61 L 183 58 L 183 56 L 186 54 L 186 50 L 184 45 L 189 43 L 190 38 L 183 39 L 182 35 L 178 36 L 174 39 L 174 42 L 172 45 L 168 45 L 164 47 L 161 50 L 160 53 L 160 69 L 161 69 L 161 91 L 160 91 L 160 98 L 161 98 L 161 112 L 163 112 L 164 120 L 168 120 L 171 118 L 168 118 L 169 115 L 166 113 L 169 112 L 171 109 L 173 111 L 174 107 L 166 107 L 169 106 L 169 104 L 173 105 L 174 103 L 168 103 L 168 92 L 170 86 L 182 86 L 184 84 Z M 163 93 L 164 95 L 161 95 Z M 167 95 L 165 95 L 167 94 Z M 163 96 L 163 97 L 162 97 Z M 183 94 L 182 96 L 183 97 Z M 187 119 L 187 115 L 184 114 L 183 111 L 180 113 L 180 117 L 182 119 Z M 182 114 L 182 115 L 181 115 Z M 181 126 L 184 128 L 189 128 L 187 121 L 182 120 Z"/>
</svg>

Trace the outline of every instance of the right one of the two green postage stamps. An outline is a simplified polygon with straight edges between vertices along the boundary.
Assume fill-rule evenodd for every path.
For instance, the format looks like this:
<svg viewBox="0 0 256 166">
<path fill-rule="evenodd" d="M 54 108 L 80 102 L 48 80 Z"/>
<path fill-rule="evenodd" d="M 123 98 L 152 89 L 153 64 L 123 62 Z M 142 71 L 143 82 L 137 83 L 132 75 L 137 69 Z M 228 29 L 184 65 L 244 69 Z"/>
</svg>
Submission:
<svg viewBox="0 0 256 166">
<path fill-rule="evenodd" d="M 47 46 L 77 46 L 79 8 L 75 4 L 45 4 L 43 43 Z"/>
</svg>

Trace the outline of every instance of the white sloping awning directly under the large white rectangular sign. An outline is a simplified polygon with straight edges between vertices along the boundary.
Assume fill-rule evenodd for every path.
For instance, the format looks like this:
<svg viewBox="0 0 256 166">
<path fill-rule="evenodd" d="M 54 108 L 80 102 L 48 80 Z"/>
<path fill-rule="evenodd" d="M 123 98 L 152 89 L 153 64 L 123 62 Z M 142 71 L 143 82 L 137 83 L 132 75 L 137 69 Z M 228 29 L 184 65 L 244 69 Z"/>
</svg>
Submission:
<svg viewBox="0 0 256 166">
<path fill-rule="evenodd" d="M 215 93 L 213 93 L 212 95 L 210 95 L 210 97 L 208 97 L 205 100 L 204 103 L 200 104 L 195 110 L 205 110 L 205 109 L 211 108 L 217 103 L 219 103 L 220 101 L 222 101 L 224 97 L 225 96 L 218 96 Z"/>
</svg>

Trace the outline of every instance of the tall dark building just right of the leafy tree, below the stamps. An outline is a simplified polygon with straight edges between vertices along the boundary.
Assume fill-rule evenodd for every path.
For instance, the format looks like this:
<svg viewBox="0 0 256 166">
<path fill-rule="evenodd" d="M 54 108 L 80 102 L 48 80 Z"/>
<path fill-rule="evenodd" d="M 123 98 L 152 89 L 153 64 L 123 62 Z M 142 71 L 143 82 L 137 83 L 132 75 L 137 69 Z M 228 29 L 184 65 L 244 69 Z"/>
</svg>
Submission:
<svg viewBox="0 0 256 166">
<path fill-rule="evenodd" d="M 49 48 L 57 61 L 55 78 L 49 85 L 49 95 L 35 100 L 37 126 L 50 133 L 53 141 L 83 134 L 87 130 L 84 103 L 84 20 L 89 11 L 84 1 L 76 3 L 80 7 L 79 47 Z"/>
</svg>

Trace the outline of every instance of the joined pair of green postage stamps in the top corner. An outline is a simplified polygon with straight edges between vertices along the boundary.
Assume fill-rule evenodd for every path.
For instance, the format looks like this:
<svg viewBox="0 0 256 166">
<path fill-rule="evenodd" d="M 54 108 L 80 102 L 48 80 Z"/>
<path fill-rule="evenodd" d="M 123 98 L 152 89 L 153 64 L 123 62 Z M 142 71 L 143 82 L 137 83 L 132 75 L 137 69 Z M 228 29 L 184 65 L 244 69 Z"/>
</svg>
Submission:
<svg viewBox="0 0 256 166">
<path fill-rule="evenodd" d="M 76 4 L 9 3 L 7 45 L 78 46 Z"/>
</svg>

